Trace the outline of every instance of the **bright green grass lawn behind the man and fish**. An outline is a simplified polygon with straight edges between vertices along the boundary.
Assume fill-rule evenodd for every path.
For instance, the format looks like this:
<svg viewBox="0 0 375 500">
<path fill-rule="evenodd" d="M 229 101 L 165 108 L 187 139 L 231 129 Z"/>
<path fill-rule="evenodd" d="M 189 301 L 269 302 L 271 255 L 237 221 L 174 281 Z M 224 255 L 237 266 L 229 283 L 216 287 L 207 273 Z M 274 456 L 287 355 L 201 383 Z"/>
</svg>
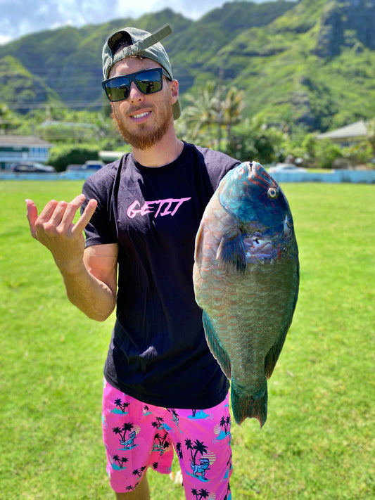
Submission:
<svg viewBox="0 0 375 500">
<path fill-rule="evenodd" d="M 284 184 L 300 248 L 295 317 L 269 380 L 269 413 L 233 425 L 235 500 L 369 500 L 375 489 L 375 188 Z M 113 318 L 87 319 L 32 240 L 25 198 L 75 181 L 0 184 L 0 497 L 113 499 L 101 443 Z M 181 487 L 150 472 L 152 498 Z"/>
</svg>

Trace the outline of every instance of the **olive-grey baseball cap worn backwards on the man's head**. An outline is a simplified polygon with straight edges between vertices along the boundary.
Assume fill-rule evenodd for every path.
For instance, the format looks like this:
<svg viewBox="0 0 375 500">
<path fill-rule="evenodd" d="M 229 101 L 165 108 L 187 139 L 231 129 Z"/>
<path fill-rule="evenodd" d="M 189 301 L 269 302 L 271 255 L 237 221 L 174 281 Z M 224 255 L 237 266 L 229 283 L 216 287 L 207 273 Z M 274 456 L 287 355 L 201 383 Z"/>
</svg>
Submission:
<svg viewBox="0 0 375 500">
<path fill-rule="evenodd" d="M 104 79 L 108 79 L 110 68 L 119 60 L 127 57 L 139 56 L 154 60 L 155 63 L 160 64 L 168 75 L 168 78 L 172 80 L 173 75 L 170 58 L 163 45 L 160 44 L 160 40 L 171 33 L 172 29 L 170 25 L 165 25 L 153 34 L 144 30 L 138 30 L 134 27 L 125 27 L 123 30 L 111 34 L 103 46 L 102 58 Z M 121 41 L 127 41 L 127 46 L 117 49 Z M 174 103 L 172 108 L 174 120 L 177 120 L 181 115 L 178 100 Z"/>
</svg>

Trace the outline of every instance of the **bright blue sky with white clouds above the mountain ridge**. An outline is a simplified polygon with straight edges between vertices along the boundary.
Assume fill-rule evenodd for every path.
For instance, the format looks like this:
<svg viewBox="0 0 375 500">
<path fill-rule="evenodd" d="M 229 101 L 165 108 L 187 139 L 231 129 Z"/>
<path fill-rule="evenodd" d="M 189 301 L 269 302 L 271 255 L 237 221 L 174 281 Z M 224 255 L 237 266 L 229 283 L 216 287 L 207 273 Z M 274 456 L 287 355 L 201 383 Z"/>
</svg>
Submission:
<svg viewBox="0 0 375 500">
<path fill-rule="evenodd" d="M 230 0 L 227 0 L 230 1 Z M 261 4 L 267 0 L 252 0 Z M 25 34 L 53 30 L 64 25 L 80 27 L 111 19 L 139 18 L 171 7 L 186 18 L 198 19 L 226 0 L 0 0 L 0 44 Z M 136 5 L 136 7 L 134 7 Z"/>
</svg>

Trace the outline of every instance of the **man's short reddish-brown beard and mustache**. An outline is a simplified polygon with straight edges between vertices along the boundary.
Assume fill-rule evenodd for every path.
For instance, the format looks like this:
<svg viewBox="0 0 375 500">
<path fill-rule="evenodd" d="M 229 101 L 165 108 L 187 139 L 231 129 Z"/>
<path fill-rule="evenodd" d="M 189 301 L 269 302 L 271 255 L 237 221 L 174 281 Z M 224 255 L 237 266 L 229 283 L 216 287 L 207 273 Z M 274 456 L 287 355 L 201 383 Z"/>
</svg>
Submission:
<svg viewBox="0 0 375 500">
<path fill-rule="evenodd" d="M 136 113 L 136 110 L 134 110 L 134 113 Z M 140 124 L 138 131 L 132 132 L 124 126 L 121 121 L 121 116 L 117 115 L 115 109 L 112 110 L 112 117 L 117 124 L 122 139 L 133 148 L 140 150 L 150 149 L 163 139 L 167 129 L 170 127 L 170 120 L 173 120 L 172 106 L 165 106 L 165 108 L 161 110 L 155 129 L 148 131 L 146 125 L 142 127 L 142 124 Z"/>
</svg>

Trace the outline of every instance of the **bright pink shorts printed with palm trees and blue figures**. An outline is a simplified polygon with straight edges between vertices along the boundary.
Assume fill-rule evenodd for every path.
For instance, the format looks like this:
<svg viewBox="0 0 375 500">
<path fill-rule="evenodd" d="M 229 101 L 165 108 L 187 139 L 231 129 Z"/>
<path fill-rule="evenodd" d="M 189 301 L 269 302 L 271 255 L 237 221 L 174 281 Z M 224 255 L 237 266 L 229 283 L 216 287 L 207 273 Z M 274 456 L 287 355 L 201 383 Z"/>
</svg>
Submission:
<svg viewBox="0 0 375 500">
<path fill-rule="evenodd" d="M 102 422 L 115 492 L 133 491 L 148 467 L 169 474 L 175 450 L 186 499 L 231 499 L 229 395 L 209 409 L 160 408 L 105 381 Z"/>
</svg>

